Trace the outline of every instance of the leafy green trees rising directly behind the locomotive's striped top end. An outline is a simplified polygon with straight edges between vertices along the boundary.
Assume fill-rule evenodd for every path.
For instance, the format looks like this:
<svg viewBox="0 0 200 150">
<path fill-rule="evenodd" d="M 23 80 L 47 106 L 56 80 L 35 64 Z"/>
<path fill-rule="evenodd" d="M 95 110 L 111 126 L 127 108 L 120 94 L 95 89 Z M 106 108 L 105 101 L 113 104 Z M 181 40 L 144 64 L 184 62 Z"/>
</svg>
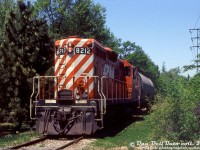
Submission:
<svg viewBox="0 0 200 150">
<path fill-rule="evenodd" d="M 117 49 L 117 39 L 106 27 L 106 9 L 92 0 L 37 0 L 35 15 L 45 18 L 54 39 L 77 35 L 95 38 L 101 44 Z"/>
</svg>

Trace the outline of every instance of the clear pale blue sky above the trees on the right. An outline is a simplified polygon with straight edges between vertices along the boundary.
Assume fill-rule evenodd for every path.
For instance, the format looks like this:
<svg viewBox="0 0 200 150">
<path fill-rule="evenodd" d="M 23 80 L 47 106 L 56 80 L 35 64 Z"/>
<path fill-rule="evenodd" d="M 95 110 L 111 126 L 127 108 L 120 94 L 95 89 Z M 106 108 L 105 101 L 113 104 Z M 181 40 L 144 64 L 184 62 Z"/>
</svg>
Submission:
<svg viewBox="0 0 200 150">
<path fill-rule="evenodd" d="M 161 69 L 192 64 L 196 50 L 189 29 L 200 28 L 200 0 L 94 0 L 106 8 L 106 26 L 135 42 Z M 194 43 L 195 44 L 195 43 Z M 196 70 L 183 73 L 194 75 Z"/>
</svg>

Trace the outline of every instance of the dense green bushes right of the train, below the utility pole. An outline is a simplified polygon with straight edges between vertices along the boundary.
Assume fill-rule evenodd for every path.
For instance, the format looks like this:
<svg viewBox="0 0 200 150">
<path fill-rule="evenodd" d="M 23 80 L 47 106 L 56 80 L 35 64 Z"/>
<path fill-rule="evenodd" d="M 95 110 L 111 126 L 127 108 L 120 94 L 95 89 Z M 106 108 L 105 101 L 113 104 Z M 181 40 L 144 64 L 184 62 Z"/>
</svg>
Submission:
<svg viewBox="0 0 200 150">
<path fill-rule="evenodd" d="M 179 68 L 163 72 L 159 78 L 159 103 L 153 113 L 155 138 L 193 141 L 200 137 L 200 78 L 188 80 Z"/>
</svg>

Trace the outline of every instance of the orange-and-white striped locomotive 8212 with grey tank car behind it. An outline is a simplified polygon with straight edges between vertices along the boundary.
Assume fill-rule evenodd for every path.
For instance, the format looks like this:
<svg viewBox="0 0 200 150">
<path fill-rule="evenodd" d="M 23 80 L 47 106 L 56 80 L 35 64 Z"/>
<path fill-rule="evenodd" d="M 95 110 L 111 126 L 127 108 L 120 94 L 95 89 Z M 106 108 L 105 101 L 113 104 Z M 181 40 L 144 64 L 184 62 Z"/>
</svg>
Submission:
<svg viewBox="0 0 200 150">
<path fill-rule="evenodd" d="M 54 76 L 35 76 L 30 118 L 48 135 L 93 134 L 111 106 L 146 105 L 152 81 L 95 39 L 55 42 Z"/>
</svg>

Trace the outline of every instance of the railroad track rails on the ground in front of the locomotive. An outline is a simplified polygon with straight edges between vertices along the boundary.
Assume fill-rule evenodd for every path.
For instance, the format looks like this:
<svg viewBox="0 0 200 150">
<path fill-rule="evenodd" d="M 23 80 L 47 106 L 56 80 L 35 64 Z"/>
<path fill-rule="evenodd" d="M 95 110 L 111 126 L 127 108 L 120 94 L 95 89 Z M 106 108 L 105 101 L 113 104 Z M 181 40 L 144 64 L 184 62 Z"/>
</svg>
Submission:
<svg viewBox="0 0 200 150">
<path fill-rule="evenodd" d="M 78 137 L 78 138 L 75 138 L 75 139 L 73 139 L 73 140 L 62 140 L 62 144 L 61 144 L 61 146 L 59 145 L 59 146 L 56 146 L 56 147 L 53 147 L 53 149 L 54 150 L 61 150 L 61 149 L 64 149 L 64 148 L 66 148 L 66 147 L 68 147 L 68 146 L 70 146 L 70 145 L 73 145 L 74 143 L 77 143 L 77 142 L 79 142 L 80 140 L 82 140 L 83 139 L 83 136 L 81 136 L 81 137 Z M 26 143 L 23 143 L 23 144 L 20 144 L 20 145 L 16 145 L 16 146 L 13 146 L 13 147 L 9 147 L 9 148 L 7 148 L 7 149 L 23 149 L 23 150 L 25 150 L 25 149 L 37 149 L 36 147 L 34 147 L 34 145 L 36 145 L 36 144 L 39 144 L 40 142 L 44 142 L 45 143 L 45 141 L 46 140 L 52 140 L 51 138 L 49 138 L 49 137 L 47 137 L 47 136 L 44 136 L 44 137 L 42 137 L 42 138 L 39 138 L 39 139 L 36 139 L 36 140 L 33 140 L 33 141 L 30 141 L 30 142 L 26 142 Z M 55 139 L 56 140 L 56 142 L 58 142 L 58 140 L 57 139 Z M 64 144 L 63 144 L 64 143 Z M 30 148 L 30 146 L 32 146 L 32 148 Z M 39 149 L 39 148 L 38 148 Z M 47 149 L 51 149 L 51 147 L 47 147 Z"/>
</svg>

